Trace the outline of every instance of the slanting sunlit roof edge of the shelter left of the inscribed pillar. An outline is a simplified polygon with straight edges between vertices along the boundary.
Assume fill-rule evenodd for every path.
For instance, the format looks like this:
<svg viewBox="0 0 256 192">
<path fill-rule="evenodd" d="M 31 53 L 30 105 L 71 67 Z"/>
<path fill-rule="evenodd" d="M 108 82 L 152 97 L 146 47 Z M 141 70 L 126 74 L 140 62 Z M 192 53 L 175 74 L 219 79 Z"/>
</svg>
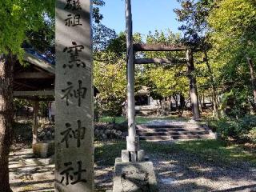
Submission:
<svg viewBox="0 0 256 192">
<path fill-rule="evenodd" d="M 55 74 L 55 66 L 51 65 L 49 62 L 46 62 L 40 58 L 35 57 L 33 54 L 25 53 L 24 60 L 30 62 L 31 64 L 42 68 L 52 74 Z"/>
</svg>

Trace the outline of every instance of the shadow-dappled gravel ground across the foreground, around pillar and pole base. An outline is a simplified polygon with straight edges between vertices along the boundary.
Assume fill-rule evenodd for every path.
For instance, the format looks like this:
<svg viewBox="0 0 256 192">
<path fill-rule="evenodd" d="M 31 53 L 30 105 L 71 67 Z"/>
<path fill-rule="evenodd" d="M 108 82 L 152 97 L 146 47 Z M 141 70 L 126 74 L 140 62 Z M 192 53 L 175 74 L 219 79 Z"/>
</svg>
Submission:
<svg viewBox="0 0 256 192">
<path fill-rule="evenodd" d="M 168 145 L 171 145 L 168 144 Z M 38 165 L 27 159 L 30 149 L 10 154 L 10 183 L 14 192 L 54 189 L 54 165 Z M 202 162 L 193 154 L 178 153 L 171 157 L 150 154 L 158 178 L 159 192 L 169 191 L 256 191 L 256 168 L 246 163 L 220 165 Z M 110 189 L 114 167 L 95 166 L 95 186 Z"/>
</svg>

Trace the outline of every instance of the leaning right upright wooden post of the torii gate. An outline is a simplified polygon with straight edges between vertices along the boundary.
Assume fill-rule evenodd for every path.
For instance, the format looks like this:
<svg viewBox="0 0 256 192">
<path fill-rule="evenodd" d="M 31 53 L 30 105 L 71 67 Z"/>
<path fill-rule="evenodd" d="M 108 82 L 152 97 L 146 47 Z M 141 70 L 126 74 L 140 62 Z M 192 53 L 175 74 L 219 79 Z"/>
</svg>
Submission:
<svg viewBox="0 0 256 192">
<path fill-rule="evenodd" d="M 186 50 L 186 60 L 187 60 L 187 70 L 188 70 L 188 78 L 190 80 L 190 101 L 193 111 L 194 120 L 198 120 L 200 118 L 200 110 L 198 104 L 198 90 L 197 90 L 197 82 L 194 75 L 194 58 L 192 50 Z"/>
</svg>

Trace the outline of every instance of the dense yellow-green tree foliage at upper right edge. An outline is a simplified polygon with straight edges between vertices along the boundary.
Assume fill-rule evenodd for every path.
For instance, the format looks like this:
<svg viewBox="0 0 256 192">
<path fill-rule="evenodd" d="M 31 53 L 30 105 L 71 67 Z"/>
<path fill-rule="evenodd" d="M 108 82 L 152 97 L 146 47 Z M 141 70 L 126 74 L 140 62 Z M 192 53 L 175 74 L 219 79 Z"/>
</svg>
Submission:
<svg viewBox="0 0 256 192">
<path fill-rule="evenodd" d="M 222 0 L 211 10 L 208 22 L 213 49 L 210 55 L 222 92 L 234 92 L 234 114 L 244 114 L 248 101 L 254 106 L 254 86 L 250 82 L 250 70 L 254 74 L 256 59 L 256 3 L 253 0 Z M 250 63 L 248 62 L 250 61 Z M 248 64 L 250 66 L 248 67 Z M 255 91 L 254 91 L 255 93 Z M 255 101 L 255 102 L 254 102 Z"/>
</svg>

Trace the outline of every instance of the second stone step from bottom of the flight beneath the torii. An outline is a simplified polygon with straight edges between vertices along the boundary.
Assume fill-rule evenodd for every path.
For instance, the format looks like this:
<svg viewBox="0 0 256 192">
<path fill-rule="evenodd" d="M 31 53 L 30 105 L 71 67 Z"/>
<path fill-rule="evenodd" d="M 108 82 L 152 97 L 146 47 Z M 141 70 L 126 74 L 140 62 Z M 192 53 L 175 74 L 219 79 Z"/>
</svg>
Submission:
<svg viewBox="0 0 256 192">
<path fill-rule="evenodd" d="M 137 130 L 139 136 L 175 136 L 175 135 L 202 135 L 209 134 L 208 130 L 204 131 L 164 131 L 164 132 L 147 132 L 145 130 Z"/>
</svg>

